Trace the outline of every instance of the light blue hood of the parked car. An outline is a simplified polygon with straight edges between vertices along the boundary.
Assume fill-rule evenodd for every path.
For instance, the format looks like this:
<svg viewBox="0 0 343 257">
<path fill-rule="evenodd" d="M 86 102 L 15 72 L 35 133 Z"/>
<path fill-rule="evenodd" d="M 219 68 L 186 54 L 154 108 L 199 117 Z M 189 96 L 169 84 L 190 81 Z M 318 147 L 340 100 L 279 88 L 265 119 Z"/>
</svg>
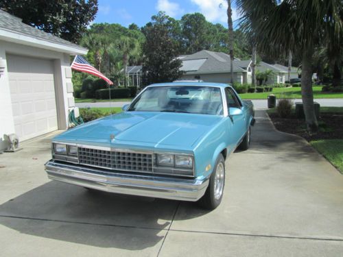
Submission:
<svg viewBox="0 0 343 257">
<path fill-rule="evenodd" d="M 193 146 L 198 138 L 209 132 L 222 117 L 206 114 L 170 112 L 122 112 L 75 127 L 55 140 L 88 142 L 121 141 L 158 145 Z"/>
</svg>

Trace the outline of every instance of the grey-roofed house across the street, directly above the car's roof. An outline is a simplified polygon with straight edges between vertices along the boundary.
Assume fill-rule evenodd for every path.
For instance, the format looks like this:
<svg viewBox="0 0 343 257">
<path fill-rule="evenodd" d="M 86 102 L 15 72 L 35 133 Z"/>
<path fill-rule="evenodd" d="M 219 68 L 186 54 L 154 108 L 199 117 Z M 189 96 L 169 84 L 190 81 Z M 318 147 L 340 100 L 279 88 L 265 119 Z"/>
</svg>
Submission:
<svg viewBox="0 0 343 257">
<path fill-rule="evenodd" d="M 230 56 L 222 52 L 202 50 L 189 56 L 179 56 L 181 70 L 185 74 L 180 79 L 202 79 L 204 82 L 230 82 Z M 233 80 L 238 83 L 251 83 L 251 61 L 235 59 Z"/>
</svg>

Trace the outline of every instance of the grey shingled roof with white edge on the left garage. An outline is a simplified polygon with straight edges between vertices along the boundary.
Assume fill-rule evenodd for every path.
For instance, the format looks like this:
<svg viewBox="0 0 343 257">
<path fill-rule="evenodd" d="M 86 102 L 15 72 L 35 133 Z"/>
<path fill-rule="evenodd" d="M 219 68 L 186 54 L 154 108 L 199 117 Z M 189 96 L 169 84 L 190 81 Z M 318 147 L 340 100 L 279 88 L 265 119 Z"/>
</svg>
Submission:
<svg viewBox="0 0 343 257">
<path fill-rule="evenodd" d="M 21 22 L 21 19 L 0 9 L 0 40 L 71 54 L 86 54 L 87 49 L 58 36 Z"/>
</svg>

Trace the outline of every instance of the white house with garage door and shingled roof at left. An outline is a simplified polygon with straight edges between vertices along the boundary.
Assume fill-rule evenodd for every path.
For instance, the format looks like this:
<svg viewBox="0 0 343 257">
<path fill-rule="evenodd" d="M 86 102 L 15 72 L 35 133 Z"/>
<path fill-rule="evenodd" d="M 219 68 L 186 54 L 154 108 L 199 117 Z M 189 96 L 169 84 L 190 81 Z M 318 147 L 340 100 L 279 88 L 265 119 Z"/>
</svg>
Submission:
<svg viewBox="0 0 343 257">
<path fill-rule="evenodd" d="M 22 141 L 67 129 L 75 106 L 70 56 L 86 53 L 0 10 L 0 150 L 4 134 Z"/>
</svg>

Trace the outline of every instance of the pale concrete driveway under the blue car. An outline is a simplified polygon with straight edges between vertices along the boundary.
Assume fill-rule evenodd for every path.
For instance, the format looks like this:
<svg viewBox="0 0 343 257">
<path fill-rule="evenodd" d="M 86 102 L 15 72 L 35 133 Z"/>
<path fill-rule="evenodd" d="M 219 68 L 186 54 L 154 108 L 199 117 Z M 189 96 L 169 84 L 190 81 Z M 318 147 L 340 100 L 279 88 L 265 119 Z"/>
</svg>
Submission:
<svg viewBox="0 0 343 257">
<path fill-rule="evenodd" d="M 262 110 L 212 212 L 49 181 L 49 137 L 23 147 L 0 155 L 0 256 L 342 256 L 343 176 Z"/>
</svg>

